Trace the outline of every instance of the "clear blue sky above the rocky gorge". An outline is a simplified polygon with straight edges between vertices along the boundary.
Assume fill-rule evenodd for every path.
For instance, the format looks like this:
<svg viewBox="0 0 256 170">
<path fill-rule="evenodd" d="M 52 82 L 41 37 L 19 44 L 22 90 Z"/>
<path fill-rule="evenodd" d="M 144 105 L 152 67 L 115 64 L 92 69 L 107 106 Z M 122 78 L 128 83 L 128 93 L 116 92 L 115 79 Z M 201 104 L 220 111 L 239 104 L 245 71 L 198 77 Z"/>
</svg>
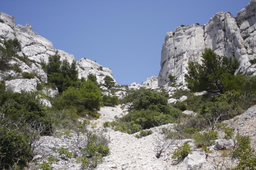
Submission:
<svg viewBox="0 0 256 170">
<path fill-rule="evenodd" d="M 112 70 L 118 84 L 158 75 L 167 31 L 201 25 L 217 12 L 234 17 L 249 0 L 3 0 L 0 11 L 29 22 L 56 49 Z"/>
</svg>

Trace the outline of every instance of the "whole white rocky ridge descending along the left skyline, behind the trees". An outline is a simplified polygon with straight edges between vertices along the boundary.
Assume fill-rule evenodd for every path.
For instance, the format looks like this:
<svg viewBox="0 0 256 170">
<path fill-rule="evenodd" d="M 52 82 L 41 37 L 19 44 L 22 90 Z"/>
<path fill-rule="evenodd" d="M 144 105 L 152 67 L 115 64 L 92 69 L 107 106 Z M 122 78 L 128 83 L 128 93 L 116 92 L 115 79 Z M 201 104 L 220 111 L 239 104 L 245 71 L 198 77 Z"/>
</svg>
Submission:
<svg viewBox="0 0 256 170">
<path fill-rule="evenodd" d="M 75 59 L 72 54 L 55 49 L 49 40 L 35 33 L 29 23 L 25 26 L 18 24 L 15 27 L 14 17 L 0 12 L 0 38 L 3 40 L 15 37 L 20 41 L 22 47 L 22 52 L 19 53 L 19 56 L 30 59 L 32 64 L 28 66 L 16 58 L 12 60 L 11 64 L 18 64 L 22 72 L 36 73 L 36 77 L 44 82 L 47 82 L 47 75 L 39 64 L 41 61 L 44 60 L 47 63 L 49 56 L 54 55 L 56 51 L 61 56 L 61 60 L 67 59 L 71 63 Z M 98 83 L 104 83 L 103 79 L 106 75 L 113 78 L 112 71 L 109 68 L 102 67 L 97 62 L 89 59 L 80 59 L 77 62 L 77 68 L 79 70 L 79 78 L 87 78 L 89 73 L 96 75 Z M 20 78 L 21 75 L 15 72 L 10 74 L 16 78 Z"/>
</svg>

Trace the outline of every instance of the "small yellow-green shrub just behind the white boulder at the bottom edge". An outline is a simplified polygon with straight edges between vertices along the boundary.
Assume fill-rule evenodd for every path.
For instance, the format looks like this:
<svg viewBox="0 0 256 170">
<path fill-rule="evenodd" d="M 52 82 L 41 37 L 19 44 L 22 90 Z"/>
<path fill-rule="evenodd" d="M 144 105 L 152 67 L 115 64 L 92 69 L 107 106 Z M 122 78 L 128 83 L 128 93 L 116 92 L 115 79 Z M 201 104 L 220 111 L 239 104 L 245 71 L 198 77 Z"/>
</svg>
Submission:
<svg viewBox="0 0 256 170">
<path fill-rule="evenodd" d="M 172 159 L 183 160 L 188 154 L 192 154 L 192 150 L 191 146 L 185 142 L 182 146 L 178 147 L 178 149 L 175 149 Z"/>
</svg>

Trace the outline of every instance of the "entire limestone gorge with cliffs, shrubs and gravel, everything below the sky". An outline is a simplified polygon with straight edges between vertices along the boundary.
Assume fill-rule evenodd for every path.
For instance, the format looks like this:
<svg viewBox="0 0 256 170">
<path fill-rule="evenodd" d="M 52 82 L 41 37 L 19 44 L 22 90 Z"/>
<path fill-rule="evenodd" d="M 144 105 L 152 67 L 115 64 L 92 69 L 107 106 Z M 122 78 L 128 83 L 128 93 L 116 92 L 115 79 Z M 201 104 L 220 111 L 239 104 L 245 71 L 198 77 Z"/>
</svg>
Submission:
<svg viewBox="0 0 256 170">
<path fill-rule="evenodd" d="M 119 85 L 0 12 L 0 169 L 256 169 L 255 14 L 167 32 L 159 74 Z"/>
</svg>

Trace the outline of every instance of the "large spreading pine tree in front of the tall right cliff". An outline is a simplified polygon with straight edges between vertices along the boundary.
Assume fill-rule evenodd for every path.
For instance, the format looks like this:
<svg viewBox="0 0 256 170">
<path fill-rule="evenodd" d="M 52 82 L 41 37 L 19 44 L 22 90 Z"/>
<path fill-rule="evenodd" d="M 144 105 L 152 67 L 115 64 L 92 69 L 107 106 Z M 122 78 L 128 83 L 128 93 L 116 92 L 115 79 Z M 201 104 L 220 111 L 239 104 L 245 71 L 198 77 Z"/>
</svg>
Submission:
<svg viewBox="0 0 256 170">
<path fill-rule="evenodd" d="M 188 73 L 185 74 L 187 86 L 192 91 L 209 91 L 224 93 L 230 86 L 237 86 L 234 73 L 239 67 L 236 58 L 217 55 L 210 48 L 202 53 L 202 64 L 188 62 Z"/>
</svg>

